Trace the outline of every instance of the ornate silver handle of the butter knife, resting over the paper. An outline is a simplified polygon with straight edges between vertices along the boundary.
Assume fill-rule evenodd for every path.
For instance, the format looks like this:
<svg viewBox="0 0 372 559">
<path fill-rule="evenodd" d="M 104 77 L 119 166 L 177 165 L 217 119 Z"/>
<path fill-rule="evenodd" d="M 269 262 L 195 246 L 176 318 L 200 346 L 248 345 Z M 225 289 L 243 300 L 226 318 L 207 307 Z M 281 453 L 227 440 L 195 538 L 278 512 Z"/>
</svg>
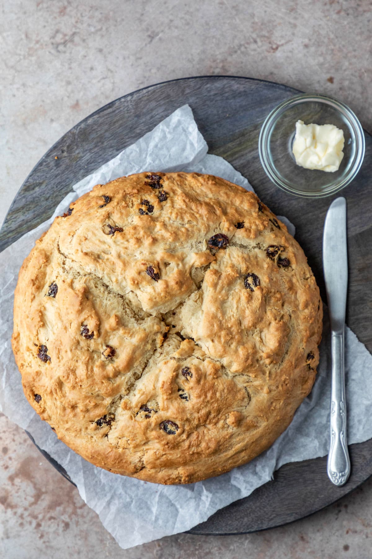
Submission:
<svg viewBox="0 0 372 559">
<path fill-rule="evenodd" d="M 344 331 L 332 332 L 331 443 L 327 473 L 335 485 L 344 485 L 350 475 L 346 440 L 346 400 L 344 369 Z"/>
</svg>

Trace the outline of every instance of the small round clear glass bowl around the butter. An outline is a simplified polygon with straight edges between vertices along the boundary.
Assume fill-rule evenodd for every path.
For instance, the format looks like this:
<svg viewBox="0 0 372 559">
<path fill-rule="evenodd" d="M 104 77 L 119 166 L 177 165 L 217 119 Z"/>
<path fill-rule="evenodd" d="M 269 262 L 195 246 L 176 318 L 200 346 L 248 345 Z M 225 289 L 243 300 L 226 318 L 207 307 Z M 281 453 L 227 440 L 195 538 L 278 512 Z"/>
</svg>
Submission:
<svg viewBox="0 0 372 559">
<path fill-rule="evenodd" d="M 334 124 L 344 131 L 344 158 L 339 170 L 327 173 L 299 167 L 292 153 L 296 122 Z M 320 198 L 344 188 L 356 176 L 364 158 L 365 140 L 359 120 L 341 101 L 320 94 L 301 93 L 270 112 L 258 141 L 259 157 L 268 177 L 296 196 Z"/>
</svg>

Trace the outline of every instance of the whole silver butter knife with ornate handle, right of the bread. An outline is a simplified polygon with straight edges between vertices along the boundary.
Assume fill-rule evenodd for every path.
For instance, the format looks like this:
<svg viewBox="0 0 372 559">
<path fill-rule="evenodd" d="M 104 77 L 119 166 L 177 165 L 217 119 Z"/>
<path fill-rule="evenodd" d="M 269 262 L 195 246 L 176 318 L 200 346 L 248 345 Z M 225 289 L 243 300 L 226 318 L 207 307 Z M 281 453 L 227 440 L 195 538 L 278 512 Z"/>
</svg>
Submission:
<svg viewBox="0 0 372 559">
<path fill-rule="evenodd" d="M 323 272 L 331 324 L 331 439 L 327 473 L 335 485 L 344 485 L 350 475 L 346 439 L 344 330 L 347 292 L 346 200 L 334 200 L 323 231 Z"/>
</svg>

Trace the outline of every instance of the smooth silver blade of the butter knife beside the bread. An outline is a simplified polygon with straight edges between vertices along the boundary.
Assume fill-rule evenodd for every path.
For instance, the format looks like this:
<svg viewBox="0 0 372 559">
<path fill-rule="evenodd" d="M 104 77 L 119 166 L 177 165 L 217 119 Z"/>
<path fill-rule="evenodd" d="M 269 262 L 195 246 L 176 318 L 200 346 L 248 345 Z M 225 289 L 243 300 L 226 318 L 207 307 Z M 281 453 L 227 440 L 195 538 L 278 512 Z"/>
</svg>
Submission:
<svg viewBox="0 0 372 559">
<path fill-rule="evenodd" d="M 323 231 L 323 271 L 330 312 L 331 329 L 345 326 L 347 293 L 346 200 L 334 200 L 326 215 Z"/>
</svg>

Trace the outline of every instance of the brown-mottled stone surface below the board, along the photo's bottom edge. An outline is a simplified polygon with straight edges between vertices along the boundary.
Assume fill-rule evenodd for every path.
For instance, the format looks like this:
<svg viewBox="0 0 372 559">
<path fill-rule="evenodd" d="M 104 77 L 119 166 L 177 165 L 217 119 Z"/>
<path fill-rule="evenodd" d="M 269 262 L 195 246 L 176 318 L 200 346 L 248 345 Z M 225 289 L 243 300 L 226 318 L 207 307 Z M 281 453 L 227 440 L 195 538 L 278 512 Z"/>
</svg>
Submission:
<svg viewBox="0 0 372 559">
<path fill-rule="evenodd" d="M 371 557 L 372 480 L 311 517 L 255 534 L 178 534 L 120 549 L 78 491 L 0 415 L 0 557 L 66 559 L 305 559 Z M 349 553 L 346 553 L 348 551 Z"/>
</svg>

